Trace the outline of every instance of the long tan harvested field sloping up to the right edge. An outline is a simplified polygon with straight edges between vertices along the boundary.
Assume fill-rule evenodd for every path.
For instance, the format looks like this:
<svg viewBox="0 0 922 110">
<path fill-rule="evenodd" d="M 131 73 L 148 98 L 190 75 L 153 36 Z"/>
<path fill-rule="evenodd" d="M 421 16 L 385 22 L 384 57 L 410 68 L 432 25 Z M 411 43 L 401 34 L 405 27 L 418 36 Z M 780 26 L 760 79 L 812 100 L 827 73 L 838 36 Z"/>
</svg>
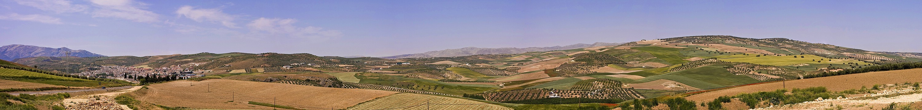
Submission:
<svg viewBox="0 0 922 110">
<path fill-rule="evenodd" d="M 784 83 L 771 82 L 771 83 L 763 83 L 763 84 L 730 88 L 726 90 L 718 90 L 714 92 L 699 93 L 699 94 L 694 94 L 694 95 L 691 95 L 685 98 L 695 101 L 695 102 L 705 102 L 705 101 L 714 100 L 715 98 L 719 96 L 724 96 L 724 95 L 736 95 L 739 93 L 757 93 L 757 92 L 774 91 L 774 90 L 782 89 L 782 84 L 785 84 L 787 89 L 822 86 L 822 87 L 826 87 L 827 89 L 829 89 L 829 91 L 838 92 L 838 91 L 845 91 L 845 90 L 850 90 L 850 89 L 860 89 L 861 86 L 871 87 L 874 84 L 922 82 L 922 75 L 919 75 L 918 74 L 919 72 L 922 72 L 922 69 L 909 69 L 909 70 L 899 70 L 899 71 L 871 71 L 871 72 L 866 72 L 866 73 L 856 73 L 856 74 L 838 75 L 838 76 L 830 76 L 830 77 L 794 80 L 794 81 L 787 81 Z"/>
</svg>

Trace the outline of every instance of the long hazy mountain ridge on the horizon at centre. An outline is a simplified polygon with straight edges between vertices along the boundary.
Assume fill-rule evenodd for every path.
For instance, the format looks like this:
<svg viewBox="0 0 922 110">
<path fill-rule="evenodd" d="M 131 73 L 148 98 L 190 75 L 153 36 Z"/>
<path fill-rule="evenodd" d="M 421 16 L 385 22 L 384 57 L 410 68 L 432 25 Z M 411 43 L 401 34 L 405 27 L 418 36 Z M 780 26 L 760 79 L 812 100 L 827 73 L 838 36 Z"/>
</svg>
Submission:
<svg viewBox="0 0 922 110">
<path fill-rule="evenodd" d="M 384 59 L 407 59 L 407 58 L 425 58 L 425 57 L 458 57 L 458 56 L 468 56 L 468 55 L 479 55 L 479 54 L 515 54 L 515 53 L 525 53 L 529 51 L 549 51 L 549 50 L 562 50 L 562 49 L 583 49 L 589 47 L 599 47 L 599 46 L 615 46 L 621 45 L 624 43 L 605 43 L 605 42 L 596 42 L 593 44 L 573 44 L 569 46 L 554 46 L 554 47 L 544 47 L 544 48 L 475 48 L 467 47 L 462 49 L 444 49 L 444 50 L 433 50 L 424 53 L 414 53 L 414 54 L 403 54 L 396 56 L 387 56 L 380 57 Z"/>
</svg>

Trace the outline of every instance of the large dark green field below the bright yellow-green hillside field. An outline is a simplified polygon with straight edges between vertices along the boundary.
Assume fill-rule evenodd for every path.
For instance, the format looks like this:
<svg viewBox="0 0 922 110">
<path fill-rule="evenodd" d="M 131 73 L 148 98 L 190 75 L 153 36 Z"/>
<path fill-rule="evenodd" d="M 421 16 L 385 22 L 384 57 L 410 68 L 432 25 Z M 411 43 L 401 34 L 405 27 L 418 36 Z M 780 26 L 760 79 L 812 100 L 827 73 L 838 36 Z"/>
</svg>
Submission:
<svg viewBox="0 0 922 110">
<path fill-rule="evenodd" d="M 714 64 L 683 71 L 673 71 L 661 75 L 646 77 L 631 83 L 652 82 L 659 79 L 665 79 L 685 83 L 695 88 L 705 89 L 753 82 L 763 82 L 752 79 L 746 75 L 735 75 L 730 73 L 730 71 L 727 71 L 727 69 L 723 68 L 724 66 L 728 65 L 730 64 Z"/>
</svg>

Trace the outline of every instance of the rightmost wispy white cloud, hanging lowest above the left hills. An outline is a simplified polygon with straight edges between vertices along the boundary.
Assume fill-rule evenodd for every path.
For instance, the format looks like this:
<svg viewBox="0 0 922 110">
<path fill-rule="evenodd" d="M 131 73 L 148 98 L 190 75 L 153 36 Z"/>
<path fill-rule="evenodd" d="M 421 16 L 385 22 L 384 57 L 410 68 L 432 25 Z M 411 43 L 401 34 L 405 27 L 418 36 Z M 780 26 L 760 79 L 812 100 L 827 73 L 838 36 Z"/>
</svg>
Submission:
<svg viewBox="0 0 922 110">
<path fill-rule="evenodd" d="M 250 28 L 251 34 L 268 35 L 268 36 L 289 36 L 293 38 L 337 38 L 343 36 L 338 30 L 324 30 L 323 28 L 305 27 L 299 28 L 292 24 L 298 20 L 292 18 L 266 18 L 260 17 L 253 20 L 246 26 Z"/>
</svg>

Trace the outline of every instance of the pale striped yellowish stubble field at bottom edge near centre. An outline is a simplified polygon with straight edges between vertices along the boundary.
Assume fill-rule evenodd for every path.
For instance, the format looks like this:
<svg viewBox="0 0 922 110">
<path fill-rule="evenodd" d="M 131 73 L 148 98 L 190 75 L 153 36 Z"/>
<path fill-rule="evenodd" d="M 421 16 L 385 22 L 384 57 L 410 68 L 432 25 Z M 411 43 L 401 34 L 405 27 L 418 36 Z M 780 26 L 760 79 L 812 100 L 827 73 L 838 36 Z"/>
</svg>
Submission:
<svg viewBox="0 0 922 110">
<path fill-rule="evenodd" d="M 426 104 L 427 101 L 430 104 L 419 105 Z M 397 108 L 410 105 L 418 106 L 400 108 L 399 110 L 512 110 L 512 108 L 497 104 L 485 104 L 483 102 L 473 100 L 419 93 L 396 93 L 375 99 L 367 103 L 352 106 L 349 109 L 370 110 Z"/>
</svg>

